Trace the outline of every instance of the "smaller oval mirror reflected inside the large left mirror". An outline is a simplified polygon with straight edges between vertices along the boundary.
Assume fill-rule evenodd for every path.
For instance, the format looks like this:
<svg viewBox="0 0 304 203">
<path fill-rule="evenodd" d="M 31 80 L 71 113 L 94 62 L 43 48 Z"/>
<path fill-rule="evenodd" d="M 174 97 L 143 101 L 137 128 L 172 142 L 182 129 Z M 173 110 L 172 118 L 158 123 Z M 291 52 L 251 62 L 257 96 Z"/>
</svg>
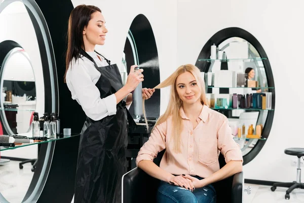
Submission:
<svg viewBox="0 0 304 203">
<path fill-rule="evenodd" d="M 7 54 L 0 79 L 1 114 L 7 133 L 28 132 L 36 107 L 36 88 L 29 56 L 22 48 L 14 48 Z"/>
</svg>

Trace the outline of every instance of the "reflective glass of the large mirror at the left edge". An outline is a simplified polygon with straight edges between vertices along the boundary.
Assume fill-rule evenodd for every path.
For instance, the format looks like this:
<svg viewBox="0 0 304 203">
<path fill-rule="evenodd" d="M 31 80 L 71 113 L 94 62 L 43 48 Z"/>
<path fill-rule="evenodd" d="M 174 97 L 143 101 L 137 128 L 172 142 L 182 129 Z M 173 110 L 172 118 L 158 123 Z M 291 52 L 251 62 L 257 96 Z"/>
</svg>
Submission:
<svg viewBox="0 0 304 203">
<path fill-rule="evenodd" d="M 1 8 L 10 2 L 0 3 Z M 0 43 L 13 41 L 20 45 L 1 49 L 6 53 L 0 61 L 0 134 L 31 137 L 32 113 L 44 113 L 44 77 L 33 23 L 22 1 L 12 2 L 3 9 L 0 27 Z M 1 152 L 0 202 L 22 202 L 34 174 L 32 164 L 25 163 L 20 169 L 21 161 L 4 157 L 34 159 L 37 151 L 37 146 L 29 146 Z"/>
</svg>

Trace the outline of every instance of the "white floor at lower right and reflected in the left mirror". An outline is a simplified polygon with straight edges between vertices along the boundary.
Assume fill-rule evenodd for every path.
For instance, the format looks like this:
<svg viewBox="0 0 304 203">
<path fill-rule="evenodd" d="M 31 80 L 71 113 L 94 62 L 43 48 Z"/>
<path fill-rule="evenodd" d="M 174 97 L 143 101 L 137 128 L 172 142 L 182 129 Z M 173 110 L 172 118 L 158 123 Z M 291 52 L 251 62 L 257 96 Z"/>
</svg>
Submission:
<svg viewBox="0 0 304 203">
<path fill-rule="evenodd" d="M 0 164 L 0 192 L 11 203 L 20 203 L 30 184 L 33 172 L 31 164 L 26 163 L 22 170 L 18 161 Z M 299 203 L 304 202 L 304 190 L 296 189 L 290 194 L 290 199 L 285 199 L 286 188 L 278 187 L 275 192 L 270 186 L 245 184 L 251 187 L 251 194 L 244 192 L 244 203 Z M 69 203 L 69 202 L 68 202 Z"/>
</svg>

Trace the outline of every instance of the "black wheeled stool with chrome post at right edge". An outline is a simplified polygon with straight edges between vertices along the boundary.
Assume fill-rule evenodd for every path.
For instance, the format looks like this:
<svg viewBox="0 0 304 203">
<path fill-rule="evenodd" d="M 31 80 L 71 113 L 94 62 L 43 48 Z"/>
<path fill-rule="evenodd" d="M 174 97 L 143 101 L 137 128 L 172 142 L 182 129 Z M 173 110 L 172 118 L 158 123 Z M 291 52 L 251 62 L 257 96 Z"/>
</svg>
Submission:
<svg viewBox="0 0 304 203">
<path fill-rule="evenodd" d="M 304 189 L 304 184 L 301 183 L 301 157 L 304 156 L 304 148 L 287 148 L 284 150 L 285 154 L 297 156 L 298 157 L 298 167 L 296 171 L 296 181 L 292 183 L 274 183 L 271 187 L 271 191 L 275 191 L 277 187 L 289 187 L 286 190 L 285 199 L 289 199 L 289 193 L 295 188 Z"/>
</svg>

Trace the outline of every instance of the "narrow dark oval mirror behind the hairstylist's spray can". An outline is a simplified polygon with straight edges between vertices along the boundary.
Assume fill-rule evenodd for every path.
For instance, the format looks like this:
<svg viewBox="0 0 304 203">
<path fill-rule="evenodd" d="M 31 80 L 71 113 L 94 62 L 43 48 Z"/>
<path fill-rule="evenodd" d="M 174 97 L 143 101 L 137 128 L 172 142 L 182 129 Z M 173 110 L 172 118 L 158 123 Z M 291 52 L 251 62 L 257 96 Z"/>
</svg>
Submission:
<svg viewBox="0 0 304 203">
<path fill-rule="evenodd" d="M 143 74 L 148 76 L 142 82 L 142 88 L 153 88 L 160 83 L 160 67 L 154 32 L 143 14 L 137 15 L 130 25 L 122 61 L 123 82 L 126 81 L 131 65 L 136 64 L 144 70 Z M 131 115 L 137 117 L 139 115 L 135 115 L 133 105 L 129 111 Z M 160 116 L 159 90 L 156 90 L 150 99 L 145 100 L 145 111 L 148 121 L 155 121 Z"/>
</svg>

